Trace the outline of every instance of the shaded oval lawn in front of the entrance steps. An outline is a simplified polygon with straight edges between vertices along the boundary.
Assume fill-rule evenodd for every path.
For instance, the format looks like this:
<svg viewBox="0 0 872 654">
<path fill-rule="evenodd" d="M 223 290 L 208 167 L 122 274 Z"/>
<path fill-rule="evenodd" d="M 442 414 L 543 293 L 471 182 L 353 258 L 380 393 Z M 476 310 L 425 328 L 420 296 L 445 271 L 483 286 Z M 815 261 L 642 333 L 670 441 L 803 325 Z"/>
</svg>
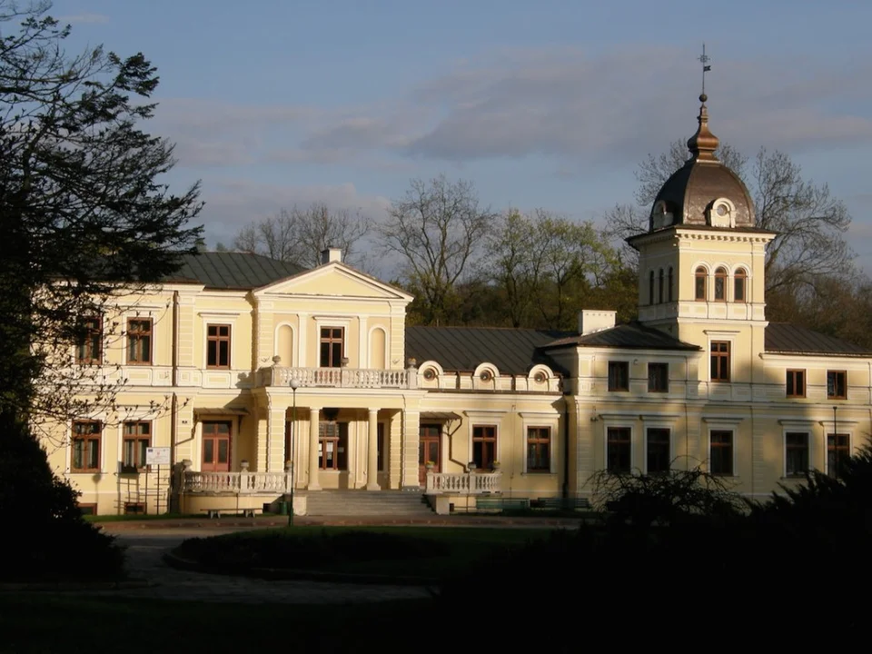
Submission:
<svg viewBox="0 0 872 654">
<path fill-rule="evenodd" d="M 293 527 L 185 541 L 176 553 L 217 569 L 322 570 L 438 580 L 496 549 L 548 538 L 548 529 Z"/>
</svg>

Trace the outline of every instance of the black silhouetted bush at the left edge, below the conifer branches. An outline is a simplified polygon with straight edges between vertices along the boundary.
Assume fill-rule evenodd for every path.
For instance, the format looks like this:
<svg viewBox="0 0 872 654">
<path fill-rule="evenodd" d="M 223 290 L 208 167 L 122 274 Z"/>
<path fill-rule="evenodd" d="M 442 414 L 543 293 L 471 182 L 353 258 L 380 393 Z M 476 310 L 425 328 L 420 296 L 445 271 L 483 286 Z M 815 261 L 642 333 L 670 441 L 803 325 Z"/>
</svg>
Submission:
<svg viewBox="0 0 872 654">
<path fill-rule="evenodd" d="M 24 424 L 0 412 L 0 580 L 106 580 L 123 575 L 124 552 L 86 522 L 76 493 L 48 465 Z"/>
</svg>

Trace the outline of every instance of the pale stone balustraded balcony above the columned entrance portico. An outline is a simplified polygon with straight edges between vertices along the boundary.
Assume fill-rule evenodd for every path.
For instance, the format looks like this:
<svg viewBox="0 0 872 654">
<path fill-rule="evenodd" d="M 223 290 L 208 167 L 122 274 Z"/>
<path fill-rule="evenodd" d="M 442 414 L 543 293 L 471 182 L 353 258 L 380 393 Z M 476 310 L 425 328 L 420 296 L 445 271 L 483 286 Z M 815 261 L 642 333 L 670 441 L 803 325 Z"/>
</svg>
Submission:
<svg viewBox="0 0 872 654">
<path fill-rule="evenodd" d="M 288 368 L 270 366 L 257 371 L 255 385 L 288 386 L 292 379 L 306 388 L 417 388 L 418 371 L 365 368 Z"/>
</svg>

